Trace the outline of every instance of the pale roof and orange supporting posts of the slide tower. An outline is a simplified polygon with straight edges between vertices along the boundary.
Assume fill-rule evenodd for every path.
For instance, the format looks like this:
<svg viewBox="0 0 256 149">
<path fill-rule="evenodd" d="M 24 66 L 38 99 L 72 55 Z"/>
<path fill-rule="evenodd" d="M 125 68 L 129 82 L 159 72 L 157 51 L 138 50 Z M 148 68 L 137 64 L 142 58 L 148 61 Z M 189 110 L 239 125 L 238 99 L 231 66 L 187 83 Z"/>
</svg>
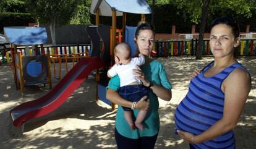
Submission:
<svg viewBox="0 0 256 149">
<path fill-rule="evenodd" d="M 148 6 L 145 0 L 137 1 L 137 0 L 127 0 L 127 1 L 114 1 L 114 0 L 92 0 L 92 4 L 90 6 L 90 13 L 95 14 L 95 24 L 98 25 L 100 23 L 100 15 L 108 16 L 112 18 L 112 30 L 111 30 L 111 39 L 116 38 L 116 17 L 122 16 L 122 28 L 124 31 L 126 29 L 126 15 L 127 13 L 132 14 L 140 14 L 141 21 L 145 22 L 145 14 L 151 14 L 151 9 Z M 125 36 L 126 32 L 122 32 L 122 37 Z M 133 36 L 134 37 L 134 36 Z M 133 40 L 133 38 L 132 38 Z M 124 38 L 121 40 L 124 41 Z M 111 56 L 113 61 L 113 48 L 116 45 L 116 40 L 111 40 Z M 134 42 L 129 43 L 129 45 L 134 45 Z"/>
</svg>

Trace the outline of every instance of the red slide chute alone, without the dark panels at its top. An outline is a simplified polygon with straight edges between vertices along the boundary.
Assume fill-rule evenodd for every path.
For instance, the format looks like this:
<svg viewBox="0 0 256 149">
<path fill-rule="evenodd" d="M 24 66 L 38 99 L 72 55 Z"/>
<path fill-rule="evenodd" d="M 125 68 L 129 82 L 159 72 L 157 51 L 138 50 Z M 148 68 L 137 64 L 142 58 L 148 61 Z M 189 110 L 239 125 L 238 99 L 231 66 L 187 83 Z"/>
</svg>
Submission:
<svg viewBox="0 0 256 149">
<path fill-rule="evenodd" d="M 106 66 L 106 62 L 103 62 L 100 57 L 81 59 L 53 88 L 53 90 L 45 96 L 38 98 L 37 100 L 22 103 L 12 109 L 10 115 L 14 126 L 20 127 L 30 119 L 35 119 L 36 117 L 51 113 L 67 100 L 92 70 Z"/>
</svg>

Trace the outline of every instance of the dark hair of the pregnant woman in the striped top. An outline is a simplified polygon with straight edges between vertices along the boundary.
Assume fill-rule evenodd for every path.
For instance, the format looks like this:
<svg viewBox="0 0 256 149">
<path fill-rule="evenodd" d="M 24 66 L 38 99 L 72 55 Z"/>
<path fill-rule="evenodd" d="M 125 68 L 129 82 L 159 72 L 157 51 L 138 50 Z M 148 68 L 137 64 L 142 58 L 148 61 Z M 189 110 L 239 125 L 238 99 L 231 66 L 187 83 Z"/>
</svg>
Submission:
<svg viewBox="0 0 256 149">
<path fill-rule="evenodd" d="M 235 20 L 231 19 L 230 17 L 219 17 L 215 20 L 213 20 L 213 22 L 211 22 L 211 29 L 218 24 L 226 24 L 229 27 L 232 28 L 232 32 L 235 38 L 239 37 L 240 35 L 240 28 L 239 25 L 236 23 Z"/>
</svg>

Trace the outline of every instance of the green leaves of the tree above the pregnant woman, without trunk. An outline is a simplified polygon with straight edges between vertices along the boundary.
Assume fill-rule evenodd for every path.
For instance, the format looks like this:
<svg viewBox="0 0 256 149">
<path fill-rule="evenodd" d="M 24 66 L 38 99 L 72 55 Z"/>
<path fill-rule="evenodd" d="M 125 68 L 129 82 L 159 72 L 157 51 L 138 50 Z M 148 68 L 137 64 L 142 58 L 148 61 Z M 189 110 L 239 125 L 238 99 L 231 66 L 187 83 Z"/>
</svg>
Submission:
<svg viewBox="0 0 256 149">
<path fill-rule="evenodd" d="M 190 19 L 196 24 L 200 23 L 202 0 L 169 0 L 169 2 L 183 12 L 184 19 Z M 208 7 L 208 20 L 213 19 L 213 17 L 236 17 L 237 15 L 249 18 L 252 16 L 251 9 L 251 3 L 247 0 L 211 0 Z"/>
</svg>

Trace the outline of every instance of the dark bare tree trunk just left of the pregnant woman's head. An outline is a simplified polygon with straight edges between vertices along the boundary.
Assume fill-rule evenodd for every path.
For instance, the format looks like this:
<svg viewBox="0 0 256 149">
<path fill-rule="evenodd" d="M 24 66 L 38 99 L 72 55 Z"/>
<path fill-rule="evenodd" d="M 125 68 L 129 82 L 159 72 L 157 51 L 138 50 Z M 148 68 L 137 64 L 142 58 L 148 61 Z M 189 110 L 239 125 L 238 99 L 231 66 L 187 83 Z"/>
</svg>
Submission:
<svg viewBox="0 0 256 149">
<path fill-rule="evenodd" d="M 205 32 L 205 23 L 208 14 L 208 5 L 210 0 L 203 0 L 203 7 L 202 7 L 202 15 L 201 15 L 201 25 L 199 30 L 199 39 L 198 39 L 198 46 L 197 52 L 195 54 L 195 59 L 202 59 L 203 53 L 203 33 Z"/>
</svg>

